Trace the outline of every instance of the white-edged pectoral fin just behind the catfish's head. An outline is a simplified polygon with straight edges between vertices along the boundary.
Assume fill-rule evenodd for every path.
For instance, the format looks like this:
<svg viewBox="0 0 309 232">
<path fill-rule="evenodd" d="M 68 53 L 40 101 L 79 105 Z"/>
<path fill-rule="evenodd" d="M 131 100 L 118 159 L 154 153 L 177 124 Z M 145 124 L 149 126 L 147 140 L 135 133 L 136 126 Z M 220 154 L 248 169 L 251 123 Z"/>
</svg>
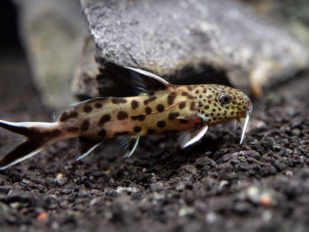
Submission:
<svg viewBox="0 0 309 232">
<path fill-rule="evenodd" d="M 189 145 L 195 143 L 197 140 L 201 139 L 206 133 L 208 126 L 206 124 L 195 127 L 190 131 L 182 132 L 178 135 L 177 140 L 180 144 L 180 148 L 183 149 Z"/>
</svg>

